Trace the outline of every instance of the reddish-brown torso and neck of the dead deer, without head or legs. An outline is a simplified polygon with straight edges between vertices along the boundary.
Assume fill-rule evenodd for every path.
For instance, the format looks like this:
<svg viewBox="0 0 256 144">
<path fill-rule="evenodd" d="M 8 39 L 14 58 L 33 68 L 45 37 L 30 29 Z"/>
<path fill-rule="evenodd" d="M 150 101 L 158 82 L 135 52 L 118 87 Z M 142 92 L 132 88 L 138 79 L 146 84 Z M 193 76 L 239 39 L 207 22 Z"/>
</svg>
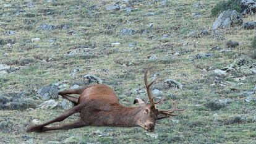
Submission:
<svg viewBox="0 0 256 144">
<path fill-rule="evenodd" d="M 137 119 L 134 116 L 140 108 L 122 106 L 114 91 L 106 85 L 93 85 L 85 89 L 79 97 L 79 103 L 85 105 L 80 117 L 88 125 L 136 126 Z"/>
</svg>

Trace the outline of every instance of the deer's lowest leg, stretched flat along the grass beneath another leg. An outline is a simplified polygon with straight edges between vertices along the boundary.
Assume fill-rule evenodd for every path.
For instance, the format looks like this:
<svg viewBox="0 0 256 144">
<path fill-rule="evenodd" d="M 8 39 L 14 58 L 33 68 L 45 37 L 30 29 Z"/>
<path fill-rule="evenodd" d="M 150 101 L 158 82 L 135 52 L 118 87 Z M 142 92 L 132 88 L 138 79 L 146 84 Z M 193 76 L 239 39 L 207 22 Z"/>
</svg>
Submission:
<svg viewBox="0 0 256 144">
<path fill-rule="evenodd" d="M 79 127 L 84 127 L 86 126 L 87 124 L 82 120 L 82 119 L 79 119 L 78 121 L 75 121 L 75 122 L 72 122 L 72 123 L 69 123 L 69 124 L 63 124 L 63 125 L 59 125 L 59 126 L 56 126 L 56 127 L 43 127 L 41 129 L 41 132 L 45 132 L 45 131 L 48 131 L 48 130 L 68 130 L 68 129 L 77 129 Z"/>
</svg>

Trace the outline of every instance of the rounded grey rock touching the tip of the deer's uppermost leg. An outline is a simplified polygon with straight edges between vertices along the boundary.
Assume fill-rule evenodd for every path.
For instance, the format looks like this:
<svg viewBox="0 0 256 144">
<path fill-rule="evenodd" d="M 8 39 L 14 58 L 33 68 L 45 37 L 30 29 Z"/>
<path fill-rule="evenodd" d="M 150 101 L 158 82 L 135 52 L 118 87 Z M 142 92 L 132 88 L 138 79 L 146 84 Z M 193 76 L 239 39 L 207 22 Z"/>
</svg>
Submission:
<svg viewBox="0 0 256 144">
<path fill-rule="evenodd" d="M 59 98 L 58 92 L 59 90 L 56 85 L 45 85 L 40 88 L 36 94 L 39 95 L 43 100 L 49 100 Z"/>
</svg>

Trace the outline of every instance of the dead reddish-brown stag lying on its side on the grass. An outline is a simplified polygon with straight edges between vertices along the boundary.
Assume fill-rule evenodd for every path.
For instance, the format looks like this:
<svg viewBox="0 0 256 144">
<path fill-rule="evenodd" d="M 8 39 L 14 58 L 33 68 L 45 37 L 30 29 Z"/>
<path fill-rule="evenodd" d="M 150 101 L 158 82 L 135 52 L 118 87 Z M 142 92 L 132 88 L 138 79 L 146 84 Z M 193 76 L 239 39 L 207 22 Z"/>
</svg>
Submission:
<svg viewBox="0 0 256 144">
<path fill-rule="evenodd" d="M 155 123 L 159 119 L 169 116 L 177 116 L 173 114 L 175 111 L 184 111 L 177 109 L 176 101 L 173 101 L 173 108 L 168 110 L 156 109 L 156 104 L 163 101 L 153 101 L 150 86 L 155 82 L 148 83 L 148 70 L 144 70 L 144 81 L 148 94 L 149 103 L 144 103 L 143 100 L 137 98 L 135 103 L 139 103 L 137 107 L 122 106 L 114 91 L 106 85 L 96 84 L 79 90 L 64 90 L 59 92 L 63 98 L 74 103 L 74 107 L 67 110 L 61 116 L 56 117 L 52 121 L 45 122 L 40 125 L 34 125 L 27 129 L 27 132 L 45 132 L 48 130 L 67 130 L 84 127 L 87 125 L 95 126 L 113 126 L 113 127 L 136 127 L 140 126 L 143 129 L 153 132 Z M 80 95 L 79 98 L 70 96 L 70 94 Z M 80 119 L 70 124 L 63 124 L 54 127 L 46 127 L 46 125 L 54 122 L 60 122 L 80 112 Z"/>
</svg>

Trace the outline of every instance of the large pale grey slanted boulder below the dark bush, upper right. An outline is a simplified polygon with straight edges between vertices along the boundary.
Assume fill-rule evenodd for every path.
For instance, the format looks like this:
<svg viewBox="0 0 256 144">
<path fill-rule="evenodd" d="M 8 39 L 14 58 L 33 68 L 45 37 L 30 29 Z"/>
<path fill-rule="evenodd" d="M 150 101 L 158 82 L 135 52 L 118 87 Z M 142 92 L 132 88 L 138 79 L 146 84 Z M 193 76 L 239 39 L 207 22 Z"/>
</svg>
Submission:
<svg viewBox="0 0 256 144">
<path fill-rule="evenodd" d="M 213 23 L 213 30 L 217 30 L 218 28 L 231 28 L 235 25 L 241 25 L 243 22 L 242 15 L 239 14 L 236 10 L 226 10 L 223 11 L 218 19 Z"/>
</svg>

